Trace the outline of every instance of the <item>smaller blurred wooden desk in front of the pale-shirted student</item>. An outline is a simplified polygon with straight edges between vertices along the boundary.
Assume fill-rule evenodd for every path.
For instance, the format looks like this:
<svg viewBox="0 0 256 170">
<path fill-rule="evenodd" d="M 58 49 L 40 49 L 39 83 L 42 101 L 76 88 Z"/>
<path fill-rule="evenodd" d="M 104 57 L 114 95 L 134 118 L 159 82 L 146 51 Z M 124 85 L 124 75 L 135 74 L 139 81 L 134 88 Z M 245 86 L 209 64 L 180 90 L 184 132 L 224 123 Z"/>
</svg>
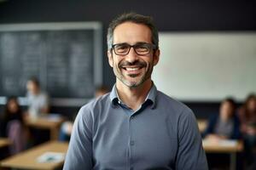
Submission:
<svg viewBox="0 0 256 170">
<path fill-rule="evenodd" d="M 37 118 L 26 117 L 26 126 L 41 129 L 49 129 L 51 140 L 58 139 L 61 123 L 64 122 L 62 116 L 39 116 Z"/>
</svg>

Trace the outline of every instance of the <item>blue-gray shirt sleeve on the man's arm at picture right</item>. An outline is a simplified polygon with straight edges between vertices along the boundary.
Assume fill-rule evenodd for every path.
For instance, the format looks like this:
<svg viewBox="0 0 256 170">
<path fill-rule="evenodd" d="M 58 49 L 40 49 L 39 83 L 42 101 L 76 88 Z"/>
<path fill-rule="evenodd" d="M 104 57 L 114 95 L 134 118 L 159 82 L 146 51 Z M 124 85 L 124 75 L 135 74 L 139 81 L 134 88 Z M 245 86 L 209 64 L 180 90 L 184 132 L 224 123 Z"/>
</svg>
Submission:
<svg viewBox="0 0 256 170">
<path fill-rule="evenodd" d="M 207 170 L 207 157 L 192 111 L 183 111 L 178 122 L 177 170 Z"/>
</svg>

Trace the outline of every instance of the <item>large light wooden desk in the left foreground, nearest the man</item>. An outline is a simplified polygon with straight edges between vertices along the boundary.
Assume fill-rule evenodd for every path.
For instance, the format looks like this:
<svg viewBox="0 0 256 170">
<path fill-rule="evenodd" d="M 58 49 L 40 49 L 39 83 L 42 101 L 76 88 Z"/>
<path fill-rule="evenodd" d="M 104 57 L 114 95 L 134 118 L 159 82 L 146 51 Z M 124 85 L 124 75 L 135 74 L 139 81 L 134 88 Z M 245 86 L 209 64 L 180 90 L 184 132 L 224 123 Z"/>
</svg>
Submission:
<svg viewBox="0 0 256 170">
<path fill-rule="evenodd" d="M 52 170 L 61 168 L 64 160 L 58 162 L 44 162 L 40 163 L 37 161 L 38 156 L 42 156 L 45 152 L 67 152 L 68 143 L 50 141 L 44 144 L 40 144 L 32 149 L 20 152 L 15 156 L 0 161 L 1 167 L 18 168 L 18 169 L 33 169 L 33 170 Z"/>
</svg>

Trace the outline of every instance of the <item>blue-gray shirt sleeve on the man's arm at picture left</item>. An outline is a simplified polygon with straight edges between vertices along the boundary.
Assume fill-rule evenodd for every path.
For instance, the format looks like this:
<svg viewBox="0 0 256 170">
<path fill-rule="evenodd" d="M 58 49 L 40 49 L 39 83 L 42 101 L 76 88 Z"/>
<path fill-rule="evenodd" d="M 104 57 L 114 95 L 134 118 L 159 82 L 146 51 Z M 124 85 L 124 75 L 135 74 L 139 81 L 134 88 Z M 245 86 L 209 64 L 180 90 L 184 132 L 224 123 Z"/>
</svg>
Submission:
<svg viewBox="0 0 256 170">
<path fill-rule="evenodd" d="M 92 169 L 92 117 L 90 109 L 82 107 L 73 125 L 63 170 Z"/>
</svg>

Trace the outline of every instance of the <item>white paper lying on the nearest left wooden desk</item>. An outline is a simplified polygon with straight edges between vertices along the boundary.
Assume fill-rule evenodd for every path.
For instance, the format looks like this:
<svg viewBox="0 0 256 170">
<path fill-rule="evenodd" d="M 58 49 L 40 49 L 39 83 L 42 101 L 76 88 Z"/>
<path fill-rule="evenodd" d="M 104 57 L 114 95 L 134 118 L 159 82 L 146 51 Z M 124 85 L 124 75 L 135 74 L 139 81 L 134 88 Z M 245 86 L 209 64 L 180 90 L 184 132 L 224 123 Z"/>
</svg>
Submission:
<svg viewBox="0 0 256 170">
<path fill-rule="evenodd" d="M 43 155 L 38 156 L 37 161 L 40 163 L 50 163 L 64 161 L 65 154 L 61 152 L 45 152 Z"/>
</svg>

